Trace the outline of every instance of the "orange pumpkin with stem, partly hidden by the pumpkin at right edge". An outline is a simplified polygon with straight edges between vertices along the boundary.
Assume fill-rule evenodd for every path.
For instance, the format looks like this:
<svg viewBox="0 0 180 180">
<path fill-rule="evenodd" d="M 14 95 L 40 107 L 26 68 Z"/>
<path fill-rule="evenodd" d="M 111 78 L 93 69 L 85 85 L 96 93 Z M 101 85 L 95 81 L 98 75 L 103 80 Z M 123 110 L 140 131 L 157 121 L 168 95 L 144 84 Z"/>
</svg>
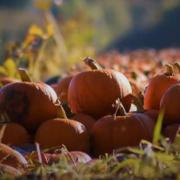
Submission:
<svg viewBox="0 0 180 180">
<path fill-rule="evenodd" d="M 167 66 L 168 68 L 171 66 Z M 166 90 L 178 82 L 178 78 L 173 75 L 173 70 L 153 77 L 147 86 L 144 94 L 144 109 L 160 108 L 160 101 Z"/>
</svg>

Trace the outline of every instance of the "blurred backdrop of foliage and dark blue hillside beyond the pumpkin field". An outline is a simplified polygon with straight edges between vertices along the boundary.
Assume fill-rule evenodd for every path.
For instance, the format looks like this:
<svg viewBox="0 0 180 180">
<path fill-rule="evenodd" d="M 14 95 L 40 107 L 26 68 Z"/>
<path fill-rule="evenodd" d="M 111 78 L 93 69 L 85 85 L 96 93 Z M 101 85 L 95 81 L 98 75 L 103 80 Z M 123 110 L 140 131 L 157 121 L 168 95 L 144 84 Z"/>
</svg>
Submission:
<svg viewBox="0 0 180 180">
<path fill-rule="evenodd" d="M 179 0 L 0 0 L 0 60 L 9 44 L 47 24 L 68 66 L 110 50 L 179 47 L 179 19 Z"/>
</svg>

